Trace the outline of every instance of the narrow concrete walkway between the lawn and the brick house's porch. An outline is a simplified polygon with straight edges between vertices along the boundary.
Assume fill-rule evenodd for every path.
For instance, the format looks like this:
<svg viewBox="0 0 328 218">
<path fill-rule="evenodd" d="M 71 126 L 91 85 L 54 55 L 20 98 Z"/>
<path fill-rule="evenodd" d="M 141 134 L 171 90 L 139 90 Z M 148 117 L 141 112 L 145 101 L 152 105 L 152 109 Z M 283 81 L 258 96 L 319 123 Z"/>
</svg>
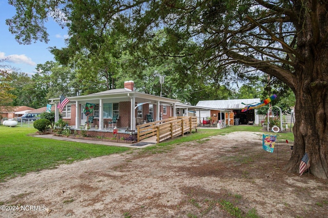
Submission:
<svg viewBox="0 0 328 218">
<path fill-rule="evenodd" d="M 104 146 L 119 146 L 119 147 L 137 148 L 137 149 L 146 148 L 148 146 L 153 146 L 155 144 L 151 140 L 129 144 L 129 143 L 118 143 L 118 142 L 111 142 L 111 141 L 97 141 L 97 140 L 86 140 L 86 139 L 79 139 L 79 138 L 67 138 L 67 137 L 55 136 L 53 134 L 34 135 L 34 137 L 48 138 L 48 139 L 54 139 L 54 140 L 64 140 L 64 141 L 75 141 L 75 142 L 90 143 L 90 144 L 103 144 Z"/>
</svg>

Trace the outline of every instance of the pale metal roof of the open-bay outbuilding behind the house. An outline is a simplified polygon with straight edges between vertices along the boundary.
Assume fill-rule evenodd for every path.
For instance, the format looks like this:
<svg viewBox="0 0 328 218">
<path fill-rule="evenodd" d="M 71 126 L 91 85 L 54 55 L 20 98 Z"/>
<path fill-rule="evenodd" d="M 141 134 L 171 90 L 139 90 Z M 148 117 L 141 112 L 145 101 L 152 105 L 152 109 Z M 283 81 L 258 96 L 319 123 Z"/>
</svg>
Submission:
<svg viewBox="0 0 328 218">
<path fill-rule="evenodd" d="M 241 104 L 253 104 L 260 103 L 260 99 L 234 99 L 234 100 L 209 100 L 209 101 L 199 101 L 196 106 L 207 107 L 207 108 L 217 108 L 217 109 L 231 109 L 240 110 L 245 107 Z"/>
</svg>

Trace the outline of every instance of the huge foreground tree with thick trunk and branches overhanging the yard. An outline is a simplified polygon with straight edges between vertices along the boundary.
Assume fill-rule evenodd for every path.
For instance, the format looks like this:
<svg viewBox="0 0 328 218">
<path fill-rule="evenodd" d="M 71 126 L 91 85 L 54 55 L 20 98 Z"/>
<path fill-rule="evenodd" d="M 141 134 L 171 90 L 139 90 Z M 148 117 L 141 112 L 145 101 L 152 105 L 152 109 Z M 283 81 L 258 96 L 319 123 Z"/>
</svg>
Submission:
<svg viewBox="0 0 328 218">
<path fill-rule="evenodd" d="M 178 59 L 181 81 L 191 83 L 197 78 L 193 74 L 206 77 L 207 69 L 214 68 L 223 75 L 218 78 L 233 78 L 240 66 L 245 66 L 244 78 L 252 78 L 254 69 L 277 78 L 296 97 L 294 150 L 285 169 L 297 172 L 308 152 L 311 173 L 328 179 L 326 1 L 10 3 L 16 6 L 17 16 L 7 24 L 18 39 L 39 34 L 43 40 L 45 15 L 60 6 L 70 21 L 70 46 L 88 46 L 91 51 L 101 44 L 105 32 L 116 29 L 128 33 L 132 51 L 142 53 L 150 47 L 154 57 Z M 165 37 L 158 37 L 158 31 Z"/>
</svg>

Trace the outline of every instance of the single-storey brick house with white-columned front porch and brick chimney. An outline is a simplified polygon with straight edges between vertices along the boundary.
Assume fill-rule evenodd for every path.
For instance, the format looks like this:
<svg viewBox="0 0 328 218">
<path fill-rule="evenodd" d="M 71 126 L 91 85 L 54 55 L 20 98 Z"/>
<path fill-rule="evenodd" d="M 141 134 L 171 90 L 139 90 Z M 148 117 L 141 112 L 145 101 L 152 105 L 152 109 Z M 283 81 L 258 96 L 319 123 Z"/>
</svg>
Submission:
<svg viewBox="0 0 328 218">
<path fill-rule="evenodd" d="M 97 125 L 98 130 L 104 130 L 111 125 L 113 117 L 118 115 L 116 127 L 135 130 L 136 125 L 147 122 L 147 114 L 151 114 L 155 120 L 175 116 L 175 106 L 180 103 L 179 100 L 134 91 L 133 81 L 126 81 L 124 88 L 67 98 L 70 101 L 61 114 L 63 120 L 75 129 L 84 126 L 89 117 L 93 116 L 92 126 Z M 58 120 L 59 98 L 50 101 L 50 104 L 55 105 Z M 86 103 L 95 105 L 92 114 L 88 116 L 84 113 Z"/>
</svg>

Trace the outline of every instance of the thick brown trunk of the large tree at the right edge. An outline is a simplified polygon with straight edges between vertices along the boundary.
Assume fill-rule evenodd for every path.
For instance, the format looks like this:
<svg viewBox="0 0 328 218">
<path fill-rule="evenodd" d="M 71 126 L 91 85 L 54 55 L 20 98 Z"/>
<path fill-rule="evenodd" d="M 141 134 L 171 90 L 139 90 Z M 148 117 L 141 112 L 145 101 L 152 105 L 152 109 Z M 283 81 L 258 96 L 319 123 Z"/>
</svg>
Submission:
<svg viewBox="0 0 328 218">
<path fill-rule="evenodd" d="M 304 60 L 298 60 L 295 65 L 292 87 L 296 96 L 295 142 L 285 169 L 298 172 L 300 161 L 307 152 L 310 173 L 328 179 L 328 25 L 322 21 L 328 7 L 312 1 L 309 7 L 311 13 L 305 14 L 304 22 L 297 28 L 297 52 Z"/>
</svg>

